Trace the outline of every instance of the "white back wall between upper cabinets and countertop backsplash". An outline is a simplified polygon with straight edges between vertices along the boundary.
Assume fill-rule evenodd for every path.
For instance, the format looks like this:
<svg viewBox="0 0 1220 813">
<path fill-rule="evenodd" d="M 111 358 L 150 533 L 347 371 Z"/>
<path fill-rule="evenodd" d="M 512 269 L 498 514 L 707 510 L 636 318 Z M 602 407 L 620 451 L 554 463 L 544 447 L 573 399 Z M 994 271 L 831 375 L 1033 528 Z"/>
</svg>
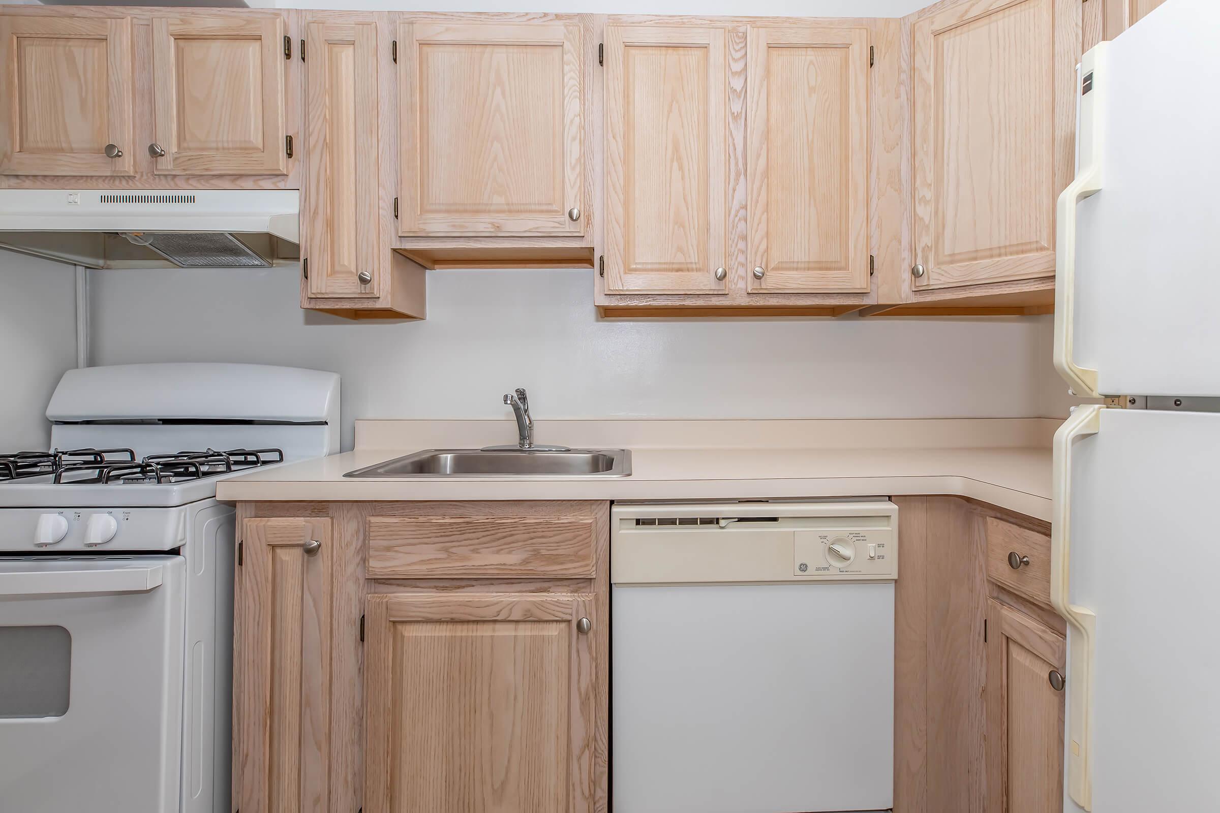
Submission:
<svg viewBox="0 0 1220 813">
<path fill-rule="evenodd" d="M 343 377 L 354 418 L 1031 417 L 1035 319 L 598 319 L 592 271 L 428 272 L 423 322 L 301 311 L 299 271 L 90 273 L 95 364 L 245 361 Z M 138 314 L 138 316 L 137 316 Z"/>
</svg>

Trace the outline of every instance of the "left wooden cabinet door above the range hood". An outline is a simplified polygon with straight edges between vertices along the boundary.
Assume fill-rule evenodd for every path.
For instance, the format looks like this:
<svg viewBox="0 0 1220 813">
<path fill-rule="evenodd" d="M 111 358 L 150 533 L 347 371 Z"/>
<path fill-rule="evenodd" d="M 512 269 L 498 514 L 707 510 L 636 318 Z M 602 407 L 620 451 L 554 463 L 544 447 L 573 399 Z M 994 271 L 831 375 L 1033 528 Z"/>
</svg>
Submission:
<svg viewBox="0 0 1220 813">
<path fill-rule="evenodd" d="M 132 59 L 131 17 L 0 16 L 0 174 L 134 174 Z"/>
</svg>

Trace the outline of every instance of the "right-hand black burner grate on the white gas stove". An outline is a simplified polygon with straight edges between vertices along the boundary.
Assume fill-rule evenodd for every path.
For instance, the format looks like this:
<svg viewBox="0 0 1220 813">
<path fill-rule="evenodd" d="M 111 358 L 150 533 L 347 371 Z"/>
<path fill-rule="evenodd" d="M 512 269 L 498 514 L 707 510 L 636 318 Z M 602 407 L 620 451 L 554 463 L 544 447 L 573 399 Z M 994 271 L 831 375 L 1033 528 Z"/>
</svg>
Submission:
<svg viewBox="0 0 1220 813">
<path fill-rule="evenodd" d="M 228 451 L 182 451 L 172 455 L 146 455 L 137 461 L 92 460 L 77 461 L 57 468 L 54 483 L 181 483 L 217 474 L 228 474 L 257 466 L 282 463 L 284 452 L 278 449 L 231 449 Z"/>
</svg>

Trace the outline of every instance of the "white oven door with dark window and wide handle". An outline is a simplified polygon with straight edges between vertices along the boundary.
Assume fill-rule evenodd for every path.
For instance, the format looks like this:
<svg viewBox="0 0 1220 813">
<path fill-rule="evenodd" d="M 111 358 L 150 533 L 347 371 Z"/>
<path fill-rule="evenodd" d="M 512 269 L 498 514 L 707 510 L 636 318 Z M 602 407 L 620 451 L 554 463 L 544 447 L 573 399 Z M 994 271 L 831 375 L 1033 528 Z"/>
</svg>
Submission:
<svg viewBox="0 0 1220 813">
<path fill-rule="evenodd" d="M 0 558 L 0 804 L 178 811 L 184 559 Z"/>
</svg>

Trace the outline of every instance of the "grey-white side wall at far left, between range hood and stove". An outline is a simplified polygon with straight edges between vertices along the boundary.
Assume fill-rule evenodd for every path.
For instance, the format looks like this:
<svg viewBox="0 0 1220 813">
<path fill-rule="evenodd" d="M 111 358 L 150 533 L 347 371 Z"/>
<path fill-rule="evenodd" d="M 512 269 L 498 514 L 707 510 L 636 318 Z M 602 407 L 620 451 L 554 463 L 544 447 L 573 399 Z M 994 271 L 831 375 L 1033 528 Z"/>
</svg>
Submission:
<svg viewBox="0 0 1220 813">
<path fill-rule="evenodd" d="M 76 269 L 0 251 L 0 451 L 43 450 L 46 402 L 76 367 Z"/>
</svg>

